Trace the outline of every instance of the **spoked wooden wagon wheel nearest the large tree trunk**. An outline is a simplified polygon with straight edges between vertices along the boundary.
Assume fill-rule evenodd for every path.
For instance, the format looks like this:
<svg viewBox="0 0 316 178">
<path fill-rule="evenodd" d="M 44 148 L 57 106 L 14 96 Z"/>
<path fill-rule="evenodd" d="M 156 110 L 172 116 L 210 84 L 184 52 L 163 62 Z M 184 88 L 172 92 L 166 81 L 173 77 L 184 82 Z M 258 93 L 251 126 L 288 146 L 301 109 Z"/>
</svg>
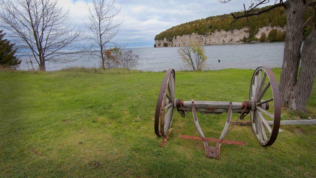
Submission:
<svg viewBox="0 0 316 178">
<path fill-rule="evenodd" d="M 271 90 L 268 90 L 269 88 Z M 250 118 L 253 132 L 262 146 L 270 146 L 279 133 L 281 103 L 279 87 L 269 67 L 258 67 L 253 73 L 249 100 L 252 102 Z M 273 105 L 269 106 L 269 102 Z M 267 120 L 273 121 L 272 127 L 270 127 Z"/>
</svg>

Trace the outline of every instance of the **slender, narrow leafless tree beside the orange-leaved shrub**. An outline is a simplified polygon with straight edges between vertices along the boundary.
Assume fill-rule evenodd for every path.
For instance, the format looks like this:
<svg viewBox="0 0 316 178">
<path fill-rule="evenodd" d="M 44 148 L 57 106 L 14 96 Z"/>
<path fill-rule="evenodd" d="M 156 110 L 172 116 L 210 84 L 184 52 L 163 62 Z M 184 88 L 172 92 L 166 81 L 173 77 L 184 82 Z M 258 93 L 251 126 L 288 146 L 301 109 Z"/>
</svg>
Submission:
<svg viewBox="0 0 316 178">
<path fill-rule="evenodd" d="M 115 36 L 119 32 L 121 22 L 113 22 L 113 18 L 117 16 L 121 8 L 115 9 L 115 0 L 92 0 L 92 7 L 89 6 L 89 23 L 87 27 L 90 34 L 87 35 L 88 41 L 91 41 L 90 55 L 97 56 L 103 68 L 105 68 L 106 56 L 104 52 L 115 45 Z M 114 11 L 114 12 L 113 12 Z"/>
</svg>

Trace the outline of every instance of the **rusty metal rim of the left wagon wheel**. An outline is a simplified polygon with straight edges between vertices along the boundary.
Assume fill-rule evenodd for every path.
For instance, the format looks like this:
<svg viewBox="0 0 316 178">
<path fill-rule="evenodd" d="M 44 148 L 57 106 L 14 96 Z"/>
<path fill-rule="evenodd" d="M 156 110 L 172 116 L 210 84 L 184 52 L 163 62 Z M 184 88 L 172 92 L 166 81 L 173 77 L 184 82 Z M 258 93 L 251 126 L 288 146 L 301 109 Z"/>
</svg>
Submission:
<svg viewBox="0 0 316 178">
<path fill-rule="evenodd" d="M 164 93 L 165 93 L 165 90 L 166 90 L 166 86 L 167 86 L 167 82 L 168 82 L 169 76 L 171 74 L 173 74 L 174 85 L 175 85 L 175 72 L 174 72 L 173 69 L 168 69 L 167 72 L 165 73 L 165 76 L 164 76 L 163 80 L 162 80 L 162 83 L 161 83 L 161 86 L 160 86 L 159 95 L 158 95 L 158 99 L 157 99 L 157 105 L 156 105 L 156 111 L 155 111 L 155 134 L 157 136 L 161 136 L 161 135 L 165 136 L 165 133 L 161 133 L 161 128 L 159 128 L 159 125 L 161 126 L 159 121 L 161 121 L 160 118 L 161 118 L 162 101 L 166 99 L 166 95 Z M 174 93 L 174 88 L 173 88 L 173 93 Z M 172 118 L 171 118 L 169 127 L 171 126 L 171 123 L 172 123 Z"/>
</svg>

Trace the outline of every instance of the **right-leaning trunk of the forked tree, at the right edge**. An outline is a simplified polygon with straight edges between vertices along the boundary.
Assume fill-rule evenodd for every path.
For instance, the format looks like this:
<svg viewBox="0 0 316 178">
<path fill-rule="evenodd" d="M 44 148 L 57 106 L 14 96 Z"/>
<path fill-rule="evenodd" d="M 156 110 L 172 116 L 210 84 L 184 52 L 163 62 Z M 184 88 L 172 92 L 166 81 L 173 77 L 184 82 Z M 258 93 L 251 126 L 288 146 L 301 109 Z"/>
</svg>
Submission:
<svg viewBox="0 0 316 178">
<path fill-rule="evenodd" d="M 312 92 L 316 74 L 316 29 L 305 39 L 302 58 L 301 72 L 296 86 L 289 97 L 289 107 L 296 111 L 306 111 L 306 103 Z"/>
</svg>

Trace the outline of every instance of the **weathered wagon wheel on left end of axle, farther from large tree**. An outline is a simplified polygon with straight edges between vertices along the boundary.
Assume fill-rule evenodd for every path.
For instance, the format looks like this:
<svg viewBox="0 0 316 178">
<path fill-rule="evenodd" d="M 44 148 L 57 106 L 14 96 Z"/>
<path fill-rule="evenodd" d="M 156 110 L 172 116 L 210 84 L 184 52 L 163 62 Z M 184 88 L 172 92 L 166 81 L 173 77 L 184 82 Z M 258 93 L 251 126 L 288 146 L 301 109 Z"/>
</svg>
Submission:
<svg viewBox="0 0 316 178">
<path fill-rule="evenodd" d="M 160 87 L 155 112 L 155 134 L 166 136 L 173 119 L 175 73 L 168 69 Z M 159 124 L 160 121 L 160 124 Z M 160 125 L 160 128 L 159 128 Z"/>
</svg>

